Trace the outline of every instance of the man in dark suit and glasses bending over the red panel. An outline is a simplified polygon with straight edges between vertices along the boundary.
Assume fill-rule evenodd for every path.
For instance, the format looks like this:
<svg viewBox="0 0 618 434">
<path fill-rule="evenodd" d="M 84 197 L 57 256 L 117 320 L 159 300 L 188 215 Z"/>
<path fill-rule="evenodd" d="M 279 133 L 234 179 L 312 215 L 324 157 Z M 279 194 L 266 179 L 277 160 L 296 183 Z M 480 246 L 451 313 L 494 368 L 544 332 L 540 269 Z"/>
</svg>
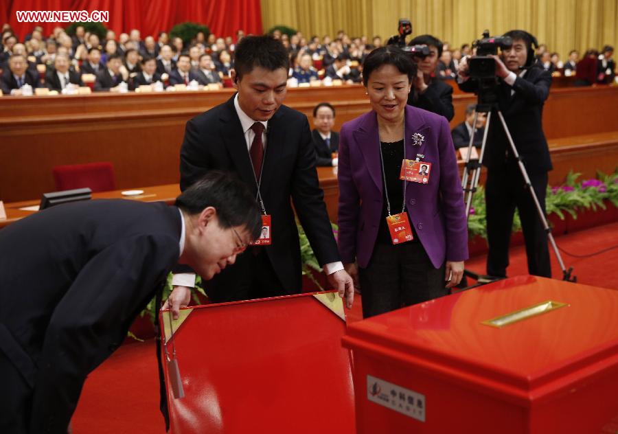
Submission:
<svg viewBox="0 0 618 434">
<path fill-rule="evenodd" d="M 247 187 L 220 172 L 174 207 L 71 203 L 2 229 L 0 432 L 67 433 L 87 375 L 161 297 L 172 266 L 188 264 L 210 279 L 261 229 Z"/>
</svg>

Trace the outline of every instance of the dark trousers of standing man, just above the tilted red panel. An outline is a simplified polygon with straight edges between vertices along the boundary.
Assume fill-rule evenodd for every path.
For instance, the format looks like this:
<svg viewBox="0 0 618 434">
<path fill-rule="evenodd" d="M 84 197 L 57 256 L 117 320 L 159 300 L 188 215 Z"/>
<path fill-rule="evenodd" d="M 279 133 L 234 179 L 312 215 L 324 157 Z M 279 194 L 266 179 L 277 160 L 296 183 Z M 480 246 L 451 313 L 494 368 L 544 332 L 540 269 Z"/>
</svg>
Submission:
<svg viewBox="0 0 618 434">
<path fill-rule="evenodd" d="M 206 293 L 214 303 L 288 295 L 264 247 L 249 247 L 236 263 L 208 282 Z"/>
</svg>

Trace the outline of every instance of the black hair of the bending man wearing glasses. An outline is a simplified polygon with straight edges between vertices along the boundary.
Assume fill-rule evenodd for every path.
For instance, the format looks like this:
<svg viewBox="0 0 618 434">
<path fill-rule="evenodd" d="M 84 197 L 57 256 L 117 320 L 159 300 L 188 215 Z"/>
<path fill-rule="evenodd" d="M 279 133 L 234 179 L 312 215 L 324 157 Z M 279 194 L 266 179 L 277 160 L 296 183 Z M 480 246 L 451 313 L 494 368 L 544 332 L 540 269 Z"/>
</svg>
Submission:
<svg viewBox="0 0 618 434">
<path fill-rule="evenodd" d="M 262 231 L 262 216 L 255 197 L 247 185 L 225 172 L 208 172 L 178 196 L 175 205 L 190 215 L 214 207 L 220 227 L 245 227 L 253 240 Z"/>
</svg>

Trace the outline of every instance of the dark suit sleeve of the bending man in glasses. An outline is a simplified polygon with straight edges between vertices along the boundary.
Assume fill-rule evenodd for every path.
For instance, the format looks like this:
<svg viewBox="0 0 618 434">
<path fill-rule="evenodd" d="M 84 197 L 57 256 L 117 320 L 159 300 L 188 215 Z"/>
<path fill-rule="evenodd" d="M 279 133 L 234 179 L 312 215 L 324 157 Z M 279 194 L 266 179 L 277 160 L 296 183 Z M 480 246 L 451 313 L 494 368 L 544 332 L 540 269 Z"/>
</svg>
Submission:
<svg viewBox="0 0 618 434">
<path fill-rule="evenodd" d="M 165 282 L 177 247 L 170 236 L 130 238 L 80 271 L 45 331 L 30 433 L 67 432 L 84 380 L 122 343 L 131 321 Z"/>
</svg>

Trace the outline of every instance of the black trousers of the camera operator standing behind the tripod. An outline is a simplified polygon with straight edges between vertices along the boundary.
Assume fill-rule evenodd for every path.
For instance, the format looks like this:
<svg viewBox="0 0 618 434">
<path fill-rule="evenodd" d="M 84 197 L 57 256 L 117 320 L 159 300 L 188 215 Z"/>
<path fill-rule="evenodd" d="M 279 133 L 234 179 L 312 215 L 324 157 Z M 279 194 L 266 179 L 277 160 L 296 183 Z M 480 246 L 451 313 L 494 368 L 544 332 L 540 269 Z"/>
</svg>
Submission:
<svg viewBox="0 0 618 434">
<path fill-rule="evenodd" d="M 545 214 L 547 172 L 529 174 L 529 177 L 543 214 Z M 528 273 L 551 277 L 547 233 L 543 229 L 536 205 L 529 190 L 525 187 L 523 176 L 516 164 L 507 164 L 505 170 L 488 170 L 485 183 L 485 205 L 489 244 L 488 275 L 506 277 L 513 216 L 517 207 L 526 244 Z"/>
</svg>

